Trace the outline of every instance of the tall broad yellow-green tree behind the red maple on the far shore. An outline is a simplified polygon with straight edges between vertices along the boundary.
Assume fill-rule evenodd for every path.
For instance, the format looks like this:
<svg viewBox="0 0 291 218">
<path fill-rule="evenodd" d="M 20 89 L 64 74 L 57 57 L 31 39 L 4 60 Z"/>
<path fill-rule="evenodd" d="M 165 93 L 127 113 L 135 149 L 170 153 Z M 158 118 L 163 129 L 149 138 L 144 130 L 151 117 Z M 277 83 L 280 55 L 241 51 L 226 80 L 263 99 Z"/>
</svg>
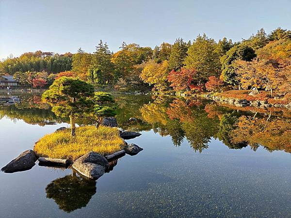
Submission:
<svg viewBox="0 0 291 218">
<path fill-rule="evenodd" d="M 198 86 L 206 82 L 210 76 L 217 76 L 220 73 L 220 57 L 216 52 L 216 47 L 216 42 L 204 33 L 202 36 L 197 36 L 187 51 L 185 68 L 196 70 L 195 77 Z"/>
</svg>

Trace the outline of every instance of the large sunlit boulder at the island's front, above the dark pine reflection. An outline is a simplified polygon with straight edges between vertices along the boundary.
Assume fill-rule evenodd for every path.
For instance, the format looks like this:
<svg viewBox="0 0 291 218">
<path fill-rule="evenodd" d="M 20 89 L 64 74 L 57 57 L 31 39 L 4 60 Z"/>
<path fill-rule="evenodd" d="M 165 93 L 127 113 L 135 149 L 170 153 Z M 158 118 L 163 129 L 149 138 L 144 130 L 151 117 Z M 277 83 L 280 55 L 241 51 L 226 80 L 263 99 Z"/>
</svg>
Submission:
<svg viewBox="0 0 291 218">
<path fill-rule="evenodd" d="M 107 159 L 93 151 L 81 156 L 73 163 L 73 168 L 75 170 L 91 179 L 98 179 L 101 177 L 108 167 L 109 163 Z"/>
</svg>

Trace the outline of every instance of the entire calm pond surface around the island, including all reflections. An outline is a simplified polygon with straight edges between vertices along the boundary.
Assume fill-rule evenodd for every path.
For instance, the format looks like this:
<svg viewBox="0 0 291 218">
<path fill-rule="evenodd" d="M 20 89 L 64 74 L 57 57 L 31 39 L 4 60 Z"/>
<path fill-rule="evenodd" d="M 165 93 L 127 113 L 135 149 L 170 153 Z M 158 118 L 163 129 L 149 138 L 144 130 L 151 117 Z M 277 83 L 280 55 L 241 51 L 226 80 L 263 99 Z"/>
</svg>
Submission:
<svg viewBox="0 0 291 218">
<path fill-rule="evenodd" d="M 0 167 L 69 126 L 39 93 L 13 95 L 21 103 L 0 107 Z M 97 181 L 37 163 L 1 172 L 0 217 L 291 216 L 291 110 L 149 95 L 115 99 L 119 126 L 142 133 L 127 141 L 144 150 L 118 159 Z"/>
</svg>

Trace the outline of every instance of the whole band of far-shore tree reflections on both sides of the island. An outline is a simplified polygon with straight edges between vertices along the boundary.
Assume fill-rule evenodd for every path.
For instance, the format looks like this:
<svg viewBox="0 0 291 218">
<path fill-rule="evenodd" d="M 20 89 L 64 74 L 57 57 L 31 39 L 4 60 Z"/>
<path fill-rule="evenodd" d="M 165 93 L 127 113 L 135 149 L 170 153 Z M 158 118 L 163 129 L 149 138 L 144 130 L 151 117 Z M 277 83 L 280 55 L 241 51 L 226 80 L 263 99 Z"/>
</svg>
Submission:
<svg viewBox="0 0 291 218">
<path fill-rule="evenodd" d="M 41 93 L 17 94 L 20 103 L 0 108 L 0 119 L 21 119 L 28 124 L 52 125 L 68 122 L 56 117 L 41 102 Z M 211 138 L 221 140 L 231 149 L 250 146 L 254 151 L 263 146 L 268 151 L 291 152 L 291 110 L 282 108 L 236 108 L 201 99 L 167 96 L 115 95 L 117 121 L 121 128 L 132 131 L 153 129 L 170 136 L 175 146 L 187 140 L 194 151 L 208 148 Z M 227 106 L 227 107 L 226 107 Z M 130 122 L 135 117 L 137 121 Z M 89 120 L 77 121 L 91 124 Z"/>
</svg>

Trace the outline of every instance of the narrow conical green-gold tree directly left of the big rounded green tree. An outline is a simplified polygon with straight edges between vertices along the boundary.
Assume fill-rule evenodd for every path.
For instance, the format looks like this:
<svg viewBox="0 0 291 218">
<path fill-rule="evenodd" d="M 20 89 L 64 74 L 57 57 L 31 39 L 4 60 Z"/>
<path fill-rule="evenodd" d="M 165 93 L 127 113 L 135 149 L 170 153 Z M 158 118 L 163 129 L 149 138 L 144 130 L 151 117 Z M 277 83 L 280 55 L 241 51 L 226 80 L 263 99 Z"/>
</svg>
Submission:
<svg viewBox="0 0 291 218">
<path fill-rule="evenodd" d="M 182 66 L 184 66 L 187 50 L 187 44 L 183 41 L 183 39 L 176 39 L 169 57 L 169 70 L 179 70 Z"/>
</svg>

